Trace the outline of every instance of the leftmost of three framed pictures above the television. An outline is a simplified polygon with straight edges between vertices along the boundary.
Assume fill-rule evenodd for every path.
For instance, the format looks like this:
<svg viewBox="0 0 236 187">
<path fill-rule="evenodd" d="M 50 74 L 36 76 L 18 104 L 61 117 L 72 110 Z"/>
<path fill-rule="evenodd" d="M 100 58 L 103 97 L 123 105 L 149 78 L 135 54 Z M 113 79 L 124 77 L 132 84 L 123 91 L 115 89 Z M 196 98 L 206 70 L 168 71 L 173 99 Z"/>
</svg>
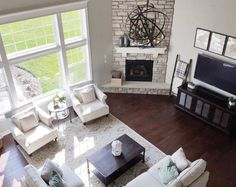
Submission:
<svg viewBox="0 0 236 187">
<path fill-rule="evenodd" d="M 194 47 L 207 50 L 211 32 L 197 28 Z"/>
</svg>

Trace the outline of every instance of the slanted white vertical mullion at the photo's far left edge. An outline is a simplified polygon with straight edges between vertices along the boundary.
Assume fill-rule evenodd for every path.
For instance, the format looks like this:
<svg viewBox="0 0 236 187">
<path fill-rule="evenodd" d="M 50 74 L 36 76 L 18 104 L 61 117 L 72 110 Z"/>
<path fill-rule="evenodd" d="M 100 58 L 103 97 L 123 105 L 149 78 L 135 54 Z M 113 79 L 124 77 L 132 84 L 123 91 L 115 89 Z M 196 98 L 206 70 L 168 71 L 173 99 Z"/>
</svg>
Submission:
<svg viewBox="0 0 236 187">
<path fill-rule="evenodd" d="M 13 107 L 16 107 L 17 106 L 17 93 L 16 93 L 14 80 L 13 80 L 13 77 L 11 74 L 10 64 L 7 59 L 6 50 L 5 50 L 5 47 L 3 44 L 1 34 L 0 34 L 0 54 L 1 54 L 1 58 L 2 58 L 3 69 L 5 71 L 5 77 L 7 79 L 7 84 L 8 84 L 9 90 L 10 90 L 10 92 L 8 91 L 8 94 L 10 96 L 10 102 L 13 105 Z"/>
</svg>

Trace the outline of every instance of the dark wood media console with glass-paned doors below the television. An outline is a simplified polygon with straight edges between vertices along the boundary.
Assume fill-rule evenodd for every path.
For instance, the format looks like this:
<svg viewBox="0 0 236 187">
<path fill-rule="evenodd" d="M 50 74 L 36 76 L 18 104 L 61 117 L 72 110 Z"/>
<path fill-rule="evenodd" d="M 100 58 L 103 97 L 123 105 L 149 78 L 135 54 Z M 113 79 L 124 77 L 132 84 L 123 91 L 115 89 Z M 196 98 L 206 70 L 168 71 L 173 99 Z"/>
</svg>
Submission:
<svg viewBox="0 0 236 187">
<path fill-rule="evenodd" d="M 227 97 L 202 87 L 194 91 L 187 84 L 178 87 L 176 107 L 230 134 L 236 132 L 236 111 L 227 107 Z"/>
</svg>

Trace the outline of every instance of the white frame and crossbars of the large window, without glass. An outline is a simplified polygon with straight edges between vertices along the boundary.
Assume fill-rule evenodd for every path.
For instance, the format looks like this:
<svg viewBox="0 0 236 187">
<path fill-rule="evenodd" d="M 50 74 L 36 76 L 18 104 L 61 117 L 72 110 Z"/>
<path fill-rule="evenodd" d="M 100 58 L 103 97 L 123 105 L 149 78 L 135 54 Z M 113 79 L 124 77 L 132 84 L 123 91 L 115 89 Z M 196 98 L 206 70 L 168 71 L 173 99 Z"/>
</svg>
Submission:
<svg viewBox="0 0 236 187">
<path fill-rule="evenodd" d="M 84 33 L 85 36 L 82 38 L 72 38 L 69 40 L 65 40 L 61 14 L 63 12 L 69 12 L 69 11 L 75 11 L 75 10 L 80 10 L 82 12 L 81 14 L 83 16 L 83 19 L 81 19 L 83 21 L 82 33 Z M 26 62 L 26 61 L 31 60 L 32 58 L 37 58 L 37 57 L 42 57 L 49 54 L 57 53 L 59 54 L 59 57 L 60 57 L 59 63 L 60 63 L 62 81 L 63 81 L 63 89 L 69 91 L 70 87 L 72 86 L 83 84 L 84 82 L 91 82 L 93 80 L 89 28 L 88 28 L 87 1 L 67 3 L 65 5 L 58 5 L 54 7 L 41 8 L 41 9 L 37 9 L 33 11 L 26 11 L 26 12 L 20 12 L 20 13 L 15 13 L 11 15 L 1 16 L 0 24 L 23 21 L 26 19 L 33 19 L 40 16 L 49 16 L 49 15 L 54 16 L 53 25 L 54 25 L 54 34 L 56 36 L 56 43 L 54 44 L 48 44 L 48 45 L 44 45 L 40 47 L 35 47 L 32 49 L 27 49 L 21 52 L 7 55 L 2 37 L 0 35 L 0 54 L 2 57 L 1 61 L 2 61 L 2 66 L 6 72 L 6 79 L 8 83 L 8 88 L 10 90 L 9 95 L 10 95 L 10 101 L 12 102 L 12 108 L 18 107 L 20 103 L 18 103 L 18 100 L 17 100 L 17 93 L 16 93 L 14 82 L 13 82 L 13 77 L 10 72 L 10 65 Z M 74 48 L 82 47 L 85 45 L 87 45 L 87 51 L 86 51 L 87 63 L 86 64 L 87 64 L 87 70 L 88 70 L 88 72 L 86 73 L 87 74 L 86 80 L 82 82 L 78 82 L 74 85 L 70 85 L 66 51 L 69 49 L 74 49 Z M 54 90 L 54 91 L 51 91 L 42 95 L 48 95 L 53 92 L 58 92 L 58 90 Z M 29 99 L 27 102 L 33 101 L 37 97 L 42 97 L 42 95 Z"/>
</svg>

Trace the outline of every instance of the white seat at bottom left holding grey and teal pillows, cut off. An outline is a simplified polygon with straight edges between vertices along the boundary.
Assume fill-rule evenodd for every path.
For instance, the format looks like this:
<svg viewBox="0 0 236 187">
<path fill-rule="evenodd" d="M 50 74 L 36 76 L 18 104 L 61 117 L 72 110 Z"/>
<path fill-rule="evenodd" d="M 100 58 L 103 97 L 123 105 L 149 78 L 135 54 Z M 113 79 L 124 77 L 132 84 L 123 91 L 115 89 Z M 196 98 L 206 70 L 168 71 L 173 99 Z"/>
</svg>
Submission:
<svg viewBox="0 0 236 187">
<path fill-rule="evenodd" d="M 81 179 L 65 164 L 62 165 L 62 179 L 67 187 L 83 187 Z M 41 169 L 37 170 L 32 165 L 25 166 L 25 177 L 21 179 L 24 187 L 48 187 L 48 184 L 40 176 Z"/>
</svg>

